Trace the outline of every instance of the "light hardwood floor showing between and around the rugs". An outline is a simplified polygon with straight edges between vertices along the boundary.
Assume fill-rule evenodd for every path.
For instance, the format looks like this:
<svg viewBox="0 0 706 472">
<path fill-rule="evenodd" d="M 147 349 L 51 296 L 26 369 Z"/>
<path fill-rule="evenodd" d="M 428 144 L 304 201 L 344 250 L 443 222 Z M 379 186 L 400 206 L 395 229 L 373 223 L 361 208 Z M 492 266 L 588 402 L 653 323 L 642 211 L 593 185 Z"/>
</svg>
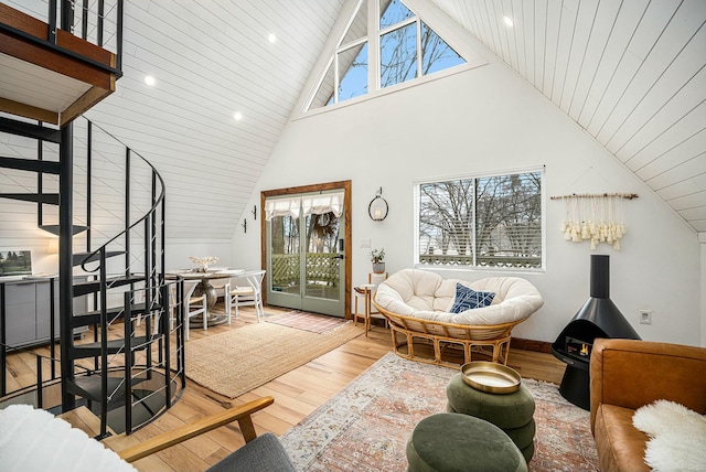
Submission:
<svg viewBox="0 0 706 472">
<path fill-rule="evenodd" d="M 217 304 L 215 310 L 223 310 L 222 303 Z M 288 311 L 288 309 L 266 307 L 267 313 Z M 245 308 L 240 311 L 239 320 L 234 320 L 231 326 L 227 324 L 211 326 L 207 331 L 192 329 L 191 340 L 236 330 L 255 322 L 255 311 Z M 267 347 L 264 345 L 264 348 Z M 254 416 L 255 428 L 258 435 L 271 431 L 280 436 L 333 397 L 389 351 L 389 332 L 382 326 L 375 326 L 367 337 L 361 335 L 235 399 L 228 399 L 197 384 L 188 382 L 181 399 L 168 412 L 129 437 L 120 435 L 108 438 L 105 442 L 114 450 L 121 450 L 140 440 L 194 421 L 203 416 L 267 395 L 275 398 L 275 404 Z M 237 354 L 224 353 L 224 355 Z M 524 377 L 557 384 L 560 383 L 565 368 L 565 364 L 550 354 L 520 350 L 512 350 L 509 365 Z M 142 459 L 136 462 L 135 466 L 142 471 L 205 470 L 243 444 L 244 440 L 237 423 L 234 423 Z"/>
</svg>

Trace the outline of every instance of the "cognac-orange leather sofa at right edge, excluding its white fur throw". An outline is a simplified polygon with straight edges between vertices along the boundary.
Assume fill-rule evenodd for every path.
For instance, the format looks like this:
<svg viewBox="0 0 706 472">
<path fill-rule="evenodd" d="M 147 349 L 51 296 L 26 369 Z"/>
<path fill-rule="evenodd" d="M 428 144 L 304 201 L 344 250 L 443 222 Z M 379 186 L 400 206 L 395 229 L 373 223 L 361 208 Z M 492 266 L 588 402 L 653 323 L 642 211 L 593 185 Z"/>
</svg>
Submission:
<svg viewBox="0 0 706 472">
<path fill-rule="evenodd" d="M 666 399 L 706 414 L 706 348 L 596 340 L 590 362 L 591 431 L 600 470 L 650 471 L 649 437 L 632 426 L 643 405 Z"/>
</svg>

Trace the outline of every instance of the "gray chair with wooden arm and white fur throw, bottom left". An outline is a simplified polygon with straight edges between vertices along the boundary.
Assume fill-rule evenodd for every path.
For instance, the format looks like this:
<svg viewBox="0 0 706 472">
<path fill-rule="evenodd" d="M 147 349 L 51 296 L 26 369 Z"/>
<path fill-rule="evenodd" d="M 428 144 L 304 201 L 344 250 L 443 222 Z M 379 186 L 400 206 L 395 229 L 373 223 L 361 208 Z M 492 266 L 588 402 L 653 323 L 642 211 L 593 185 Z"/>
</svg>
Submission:
<svg viewBox="0 0 706 472">
<path fill-rule="evenodd" d="M 245 446 L 232 452 L 210 471 L 295 472 L 295 468 L 279 440 L 271 432 L 257 436 L 252 415 L 271 405 L 272 397 L 263 397 L 197 421 L 162 432 L 117 453 L 107 449 L 111 437 L 103 444 L 82 428 L 66 420 L 72 411 L 54 417 L 31 405 L 10 405 L 0 409 L 0 458 L 2 470 L 24 471 L 135 471 L 131 462 L 179 444 L 221 426 L 238 421 Z M 74 416 L 83 421 L 81 415 Z M 83 423 L 85 426 L 85 423 Z M 117 442 L 114 446 L 120 444 Z"/>
</svg>

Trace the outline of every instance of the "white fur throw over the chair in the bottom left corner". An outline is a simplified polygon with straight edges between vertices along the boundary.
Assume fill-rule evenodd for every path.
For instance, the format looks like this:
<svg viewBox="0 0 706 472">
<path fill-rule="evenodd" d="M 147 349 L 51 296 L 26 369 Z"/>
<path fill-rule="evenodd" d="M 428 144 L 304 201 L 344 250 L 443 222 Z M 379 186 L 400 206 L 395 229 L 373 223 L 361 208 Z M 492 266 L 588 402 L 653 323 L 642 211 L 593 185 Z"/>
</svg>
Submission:
<svg viewBox="0 0 706 472">
<path fill-rule="evenodd" d="M 61 418 L 30 405 L 0 410 L 2 471 L 132 471 L 114 451 Z"/>
</svg>

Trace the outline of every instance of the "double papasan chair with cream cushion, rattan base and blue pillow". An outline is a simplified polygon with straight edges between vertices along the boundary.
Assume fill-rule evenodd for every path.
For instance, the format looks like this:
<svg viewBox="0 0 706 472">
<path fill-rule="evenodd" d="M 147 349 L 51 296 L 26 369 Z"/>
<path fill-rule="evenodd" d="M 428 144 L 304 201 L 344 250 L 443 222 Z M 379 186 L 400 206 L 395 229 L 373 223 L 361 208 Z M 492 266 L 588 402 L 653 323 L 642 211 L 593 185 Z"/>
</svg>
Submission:
<svg viewBox="0 0 706 472">
<path fill-rule="evenodd" d="M 460 346 L 467 363 L 482 353 L 482 360 L 507 364 L 512 329 L 542 308 L 544 299 L 520 277 L 469 282 L 403 269 L 378 286 L 373 304 L 389 321 L 393 348 L 402 357 L 450 364 L 441 360 L 443 350 Z M 434 358 L 416 355 L 415 341 L 432 344 Z"/>
</svg>

